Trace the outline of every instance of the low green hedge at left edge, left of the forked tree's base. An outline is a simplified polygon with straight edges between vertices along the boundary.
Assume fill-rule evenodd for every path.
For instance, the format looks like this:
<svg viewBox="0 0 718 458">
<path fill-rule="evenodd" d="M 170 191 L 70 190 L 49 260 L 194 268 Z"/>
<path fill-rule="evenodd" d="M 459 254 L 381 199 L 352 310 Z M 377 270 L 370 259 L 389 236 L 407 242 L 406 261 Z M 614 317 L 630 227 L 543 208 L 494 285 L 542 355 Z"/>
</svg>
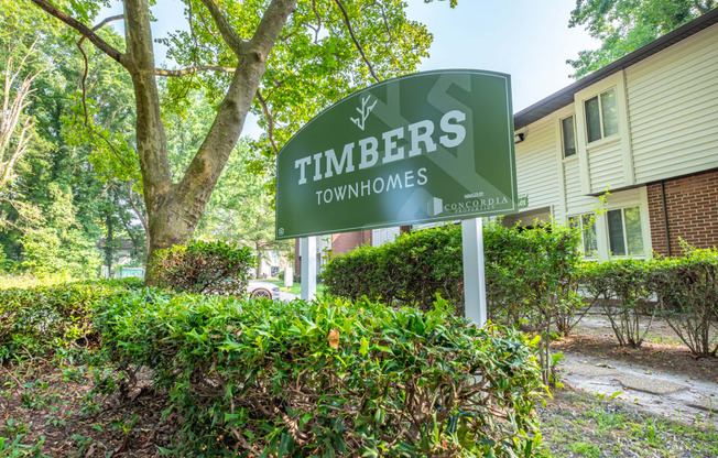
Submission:
<svg viewBox="0 0 718 458">
<path fill-rule="evenodd" d="M 98 338 L 93 326 L 98 304 L 138 286 L 137 279 L 127 279 L 0 290 L 0 363 L 90 345 Z"/>
</svg>

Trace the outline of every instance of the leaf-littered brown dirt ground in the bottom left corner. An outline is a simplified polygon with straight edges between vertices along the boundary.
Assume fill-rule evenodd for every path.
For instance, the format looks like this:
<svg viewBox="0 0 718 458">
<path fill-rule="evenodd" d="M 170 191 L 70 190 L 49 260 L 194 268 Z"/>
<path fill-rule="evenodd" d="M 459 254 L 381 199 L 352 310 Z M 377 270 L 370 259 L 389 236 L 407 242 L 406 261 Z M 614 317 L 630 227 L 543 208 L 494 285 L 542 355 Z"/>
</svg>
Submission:
<svg viewBox="0 0 718 458">
<path fill-rule="evenodd" d="M 93 393 L 108 374 L 46 361 L 0 368 L 0 437 L 30 456 L 143 458 L 171 448 L 176 422 L 162 421 L 166 395 L 142 382 L 124 401 Z"/>
</svg>

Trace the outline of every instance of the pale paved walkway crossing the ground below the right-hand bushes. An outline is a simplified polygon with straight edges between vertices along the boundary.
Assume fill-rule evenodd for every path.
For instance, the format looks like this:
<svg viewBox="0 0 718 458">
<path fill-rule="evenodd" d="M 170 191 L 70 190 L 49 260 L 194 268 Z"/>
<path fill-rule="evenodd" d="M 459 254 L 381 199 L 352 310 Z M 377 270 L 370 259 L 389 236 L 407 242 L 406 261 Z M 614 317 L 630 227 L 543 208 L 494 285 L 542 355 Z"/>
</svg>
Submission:
<svg viewBox="0 0 718 458">
<path fill-rule="evenodd" d="M 632 403 L 683 422 L 700 418 L 718 425 L 718 383 L 686 379 L 655 369 L 563 352 L 563 383 Z"/>
</svg>

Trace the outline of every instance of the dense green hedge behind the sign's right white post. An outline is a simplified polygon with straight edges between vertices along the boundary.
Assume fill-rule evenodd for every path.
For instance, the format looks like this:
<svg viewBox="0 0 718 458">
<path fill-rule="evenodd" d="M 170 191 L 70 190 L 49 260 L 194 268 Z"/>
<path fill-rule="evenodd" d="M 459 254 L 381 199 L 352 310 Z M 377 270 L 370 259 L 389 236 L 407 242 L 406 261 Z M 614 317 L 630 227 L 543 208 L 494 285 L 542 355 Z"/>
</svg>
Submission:
<svg viewBox="0 0 718 458">
<path fill-rule="evenodd" d="M 511 326 L 535 323 L 552 304 L 561 330 L 581 308 L 576 296 L 580 235 L 567 227 L 483 228 L 489 314 Z M 381 247 L 362 247 L 333 259 L 322 276 L 330 294 L 427 309 L 439 294 L 463 313 L 461 228 L 444 226 L 400 236 Z M 554 306 L 555 305 L 555 306 Z"/>
</svg>

